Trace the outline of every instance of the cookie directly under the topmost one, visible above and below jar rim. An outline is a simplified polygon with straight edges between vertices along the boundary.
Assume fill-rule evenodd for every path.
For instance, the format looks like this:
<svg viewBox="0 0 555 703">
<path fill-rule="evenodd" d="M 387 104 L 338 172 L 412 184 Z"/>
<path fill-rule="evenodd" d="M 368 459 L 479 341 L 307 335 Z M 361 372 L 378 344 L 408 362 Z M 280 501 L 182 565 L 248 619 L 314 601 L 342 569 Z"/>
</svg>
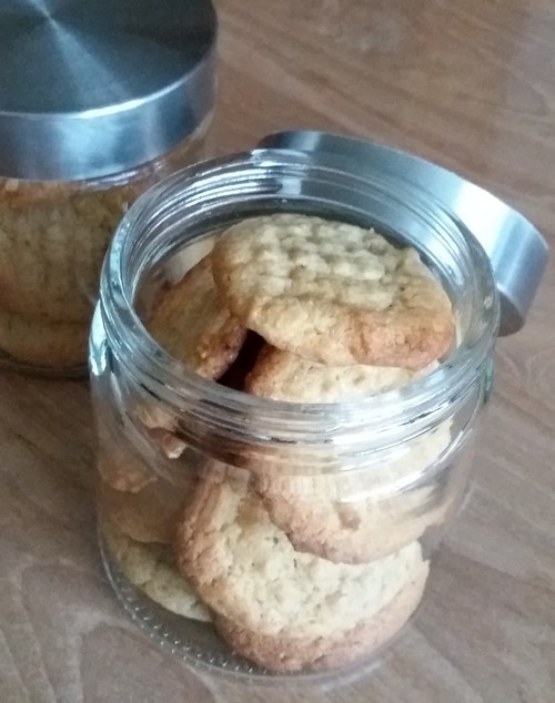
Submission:
<svg viewBox="0 0 555 703">
<path fill-rule="evenodd" d="M 406 386 L 437 367 L 421 371 L 379 366 L 325 366 L 266 346 L 246 378 L 254 395 L 293 403 L 355 400 Z M 255 489 L 271 519 L 295 549 L 331 561 L 361 563 L 380 559 L 418 539 L 450 509 L 442 491 L 425 486 L 397 492 L 448 447 L 448 424 L 407 444 L 404 455 L 373 467 L 333 475 L 295 476 L 278 450 L 251 462 Z M 394 487 L 392 495 L 391 487 Z"/>
</svg>

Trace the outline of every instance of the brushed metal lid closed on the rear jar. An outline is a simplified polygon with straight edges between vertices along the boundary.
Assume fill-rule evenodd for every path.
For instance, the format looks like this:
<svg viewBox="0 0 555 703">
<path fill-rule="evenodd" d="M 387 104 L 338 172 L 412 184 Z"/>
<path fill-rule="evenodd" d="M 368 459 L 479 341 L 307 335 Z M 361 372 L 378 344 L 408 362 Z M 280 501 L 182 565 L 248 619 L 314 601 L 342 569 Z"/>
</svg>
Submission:
<svg viewBox="0 0 555 703">
<path fill-rule="evenodd" d="M 94 179 L 147 163 L 213 103 L 210 0 L 2 0 L 0 175 Z"/>
</svg>

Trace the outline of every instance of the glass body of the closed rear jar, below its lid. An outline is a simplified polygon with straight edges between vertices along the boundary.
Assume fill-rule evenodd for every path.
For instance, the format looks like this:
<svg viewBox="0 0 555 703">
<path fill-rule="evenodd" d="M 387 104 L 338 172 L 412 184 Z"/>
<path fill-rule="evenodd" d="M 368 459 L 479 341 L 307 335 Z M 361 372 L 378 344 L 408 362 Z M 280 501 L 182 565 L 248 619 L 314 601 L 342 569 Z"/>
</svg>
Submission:
<svg viewBox="0 0 555 703">
<path fill-rule="evenodd" d="M 100 269 L 137 197 L 204 154 L 206 116 L 171 151 L 84 181 L 0 179 L 0 365 L 82 375 Z"/>
</svg>

